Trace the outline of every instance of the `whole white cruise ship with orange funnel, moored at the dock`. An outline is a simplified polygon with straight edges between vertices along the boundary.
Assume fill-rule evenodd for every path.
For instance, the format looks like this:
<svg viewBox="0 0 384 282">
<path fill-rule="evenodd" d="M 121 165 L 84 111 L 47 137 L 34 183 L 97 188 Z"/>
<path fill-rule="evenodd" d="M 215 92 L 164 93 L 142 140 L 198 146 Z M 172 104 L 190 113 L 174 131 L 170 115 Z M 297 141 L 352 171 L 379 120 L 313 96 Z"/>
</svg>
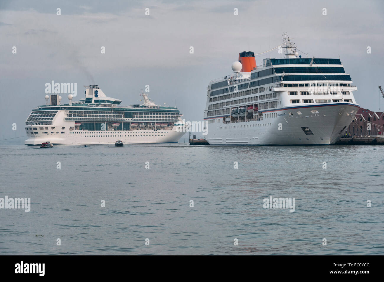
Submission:
<svg viewBox="0 0 384 282">
<path fill-rule="evenodd" d="M 239 53 L 234 73 L 209 83 L 210 145 L 320 145 L 343 135 L 359 105 L 340 59 L 301 58 L 286 34 L 281 50 L 285 58 L 262 67 Z"/>
</svg>

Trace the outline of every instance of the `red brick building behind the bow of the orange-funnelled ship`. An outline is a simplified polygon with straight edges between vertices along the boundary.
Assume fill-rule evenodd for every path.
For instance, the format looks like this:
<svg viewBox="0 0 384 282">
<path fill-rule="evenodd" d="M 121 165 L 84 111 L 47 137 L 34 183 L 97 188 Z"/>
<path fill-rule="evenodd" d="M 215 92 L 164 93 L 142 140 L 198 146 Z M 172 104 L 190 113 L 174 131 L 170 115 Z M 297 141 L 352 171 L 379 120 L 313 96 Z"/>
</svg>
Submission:
<svg viewBox="0 0 384 282">
<path fill-rule="evenodd" d="M 372 137 L 384 136 L 384 112 L 372 112 L 369 109 L 360 108 L 356 113 L 355 119 L 346 128 L 344 135 L 351 134 L 351 137 Z M 369 130 L 369 128 L 371 130 Z"/>
</svg>

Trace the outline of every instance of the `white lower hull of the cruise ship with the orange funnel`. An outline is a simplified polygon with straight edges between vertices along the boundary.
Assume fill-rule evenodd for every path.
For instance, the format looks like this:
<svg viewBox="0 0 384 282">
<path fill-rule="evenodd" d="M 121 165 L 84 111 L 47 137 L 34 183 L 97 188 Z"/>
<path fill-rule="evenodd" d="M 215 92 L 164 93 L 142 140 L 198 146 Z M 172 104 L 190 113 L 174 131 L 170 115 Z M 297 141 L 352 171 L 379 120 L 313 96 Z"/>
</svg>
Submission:
<svg viewBox="0 0 384 282">
<path fill-rule="evenodd" d="M 271 117 L 259 121 L 210 123 L 206 139 L 210 145 L 330 145 L 343 135 L 358 108 L 343 103 L 270 110 L 264 116 Z"/>
</svg>

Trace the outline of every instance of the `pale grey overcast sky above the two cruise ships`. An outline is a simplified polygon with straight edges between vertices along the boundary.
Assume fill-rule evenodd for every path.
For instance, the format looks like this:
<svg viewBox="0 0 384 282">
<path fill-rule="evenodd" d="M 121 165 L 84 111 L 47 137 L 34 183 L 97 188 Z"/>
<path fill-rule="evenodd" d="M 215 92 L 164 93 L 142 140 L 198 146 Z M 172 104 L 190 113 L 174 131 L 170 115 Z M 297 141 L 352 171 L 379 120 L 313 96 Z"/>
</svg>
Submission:
<svg viewBox="0 0 384 282">
<path fill-rule="evenodd" d="M 284 31 L 308 57 L 340 57 L 360 106 L 378 111 L 381 101 L 383 110 L 384 2 L 353 2 L 1 0 L 0 139 L 25 135 L 24 121 L 45 103 L 52 80 L 76 82 L 74 100 L 82 85 L 98 84 L 122 105 L 138 104 L 148 84 L 152 101 L 202 120 L 209 81 L 232 73 L 239 52 L 281 44 Z M 269 57 L 281 55 L 275 49 L 256 62 Z"/>
</svg>

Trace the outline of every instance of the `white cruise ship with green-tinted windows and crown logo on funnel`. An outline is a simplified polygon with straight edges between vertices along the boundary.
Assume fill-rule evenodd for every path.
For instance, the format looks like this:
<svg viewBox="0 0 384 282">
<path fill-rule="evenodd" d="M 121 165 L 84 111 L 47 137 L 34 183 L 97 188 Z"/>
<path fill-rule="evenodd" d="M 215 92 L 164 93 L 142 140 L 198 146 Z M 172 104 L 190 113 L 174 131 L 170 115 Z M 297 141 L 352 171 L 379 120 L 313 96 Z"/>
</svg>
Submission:
<svg viewBox="0 0 384 282">
<path fill-rule="evenodd" d="M 85 86 L 85 97 L 61 105 L 59 95 L 45 96 L 46 105 L 32 110 L 25 121 L 26 145 L 177 143 L 185 124 L 175 107 L 158 106 L 141 91 L 143 104 L 119 106 L 97 85 Z"/>
</svg>

